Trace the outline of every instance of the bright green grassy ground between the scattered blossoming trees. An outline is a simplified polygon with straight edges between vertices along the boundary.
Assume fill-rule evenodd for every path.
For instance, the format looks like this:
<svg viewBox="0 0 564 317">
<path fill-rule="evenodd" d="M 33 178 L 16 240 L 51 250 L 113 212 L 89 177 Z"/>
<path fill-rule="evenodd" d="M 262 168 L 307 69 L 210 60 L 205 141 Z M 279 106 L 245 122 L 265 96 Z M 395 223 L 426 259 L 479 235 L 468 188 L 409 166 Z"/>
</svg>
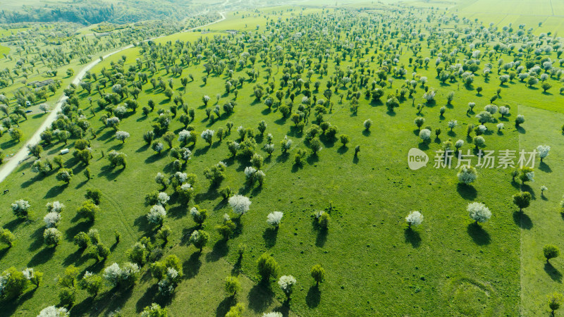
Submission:
<svg viewBox="0 0 564 317">
<path fill-rule="evenodd" d="M 299 12 L 285 13 L 285 16 L 289 18 L 294 14 L 296 17 Z M 335 13 L 333 9 L 329 12 L 345 20 L 344 13 Z M 240 18 L 243 14 L 244 19 Z M 310 9 L 304 14 L 321 18 L 319 9 Z M 229 13 L 226 21 L 209 27 L 212 33 L 187 32 L 159 39 L 157 43 L 174 43 L 177 39 L 193 42 L 200 37 L 212 39 L 214 35 L 225 35 L 225 30 L 256 32 L 257 24 L 259 34 L 263 34 L 268 32 L 265 23 L 266 18 L 253 13 Z M 359 29 L 359 25 L 350 26 L 350 30 Z M 290 41 L 286 40 L 284 44 Z M 278 45 L 278 42 L 271 45 Z M 426 45 L 422 47 L 420 56 L 428 56 L 429 49 Z M 377 56 L 373 51 L 370 50 L 362 60 Z M 135 58 L 144 58 L 139 49 L 129 49 L 106 58 L 92 72 L 99 73 L 102 67 L 111 68 L 111 63 L 116 63 L 121 55 L 126 56 L 125 69 L 135 66 Z M 406 47 L 398 63 L 408 69 L 407 79 L 411 78 L 410 57 Z M 314 56 L 312 58 L 315 59 Z M 464 57 L 460 55 L 460 58 Z M 498 54 L 492 63 L 496 63 L 498 58 L 510 61 L 511 57 Z M 551 58 L 556 58 L 556 53 L 553 52 Z M 299 62 L 296 58 L 288 61 Z M 195 81 L 188 83 L 184 93 L 180 78 L 167 75 L 159 61 L 160 70 L 154 77 L 162 77 L 165 81 L 172 79 L 175 94 L 183 96 L 189 107 L 195 108 L 195 120 L 190 124 L 198 135 L 203 130 L 217 131 L 224 129 L 227 122 L 234 123 L 231 134 L 221 142 L 214 139 L 211 146 L 198 137 L 192 148 L 193 157 L 185 168 L 185 173 L 197 175 L 197 195 L 190 207 L 199 204 L 210 212 L 204 230 L 211 234 L 211 240 L 202 254 L 187 243 L 187 237 L 196 225 L 188 214 L 189 208 L 173 199 L 167 207 L 165 221 L 173 234 L 164 251 L 180 257 L 185 274 L 173 299 L 163 301 L 157 297 L 157 281 L 151 278 L 145 266 L 140 282 L 131 290 L 114 292 L 106 287 L 97 299 L 87 298 L 84 291 L 79 291 L 77 304 L 71 313 L 80 316 L 121 309 L 125 316 L 131 316 L 140 313 L 151 302 L 166 304 L 173 316 L 224 316 L 235 302 L 245 305 L 245 316 L 258 316 L 273 309 L 285 315 L 298 316 L 539 316 L 546 313 L 546 294 L 560 290 L 560 272 L 564 270 L 563 259 L 553 259 L 551 266 L 545 265 L 541 251 L 546 243 L 564 248 L 558 240 L 563 226 L 558 213 L 564 173 L 564 138 L 560 132 L 564 123 L 564 101 L 558 94 L 561 85 L 551 78 L 549 81 L 554 87 L 542 94 L 538 87 L 525 87 L 516 79 L 507 85 L 499 85 L 495 72 L 486 80 L 480 75 L 481 71 L 476 73 L 471 87 L 458 82 L 441 83 L 436 78 L 432 61 L 434 58 L 427 68 L 417 68 L 416 72 L 428 77 L 427 85 L 437 91 L 436 103 L 424 108 L 422 117 L 426 119 L 424 126 L 443 130 L 439 139 L 424 144 L 417 137 L 413 123 L 417 110 L 413 105 L 424 101 L 424 90 L 420 84 L 413 99 L 403 99 L 394 112 L 387 111 L 384 104 L 371 102 L 362 94 L 356 114 L 351 113 L 350 99 L 346 97 L 348 85 L 333 94 L 333 109 L 324 116 L 324 120 L 338 126 L 338 135 L 349 135 L 350 144 L 341 147 L 338 140 L 324 138 L 319 155 L 308 154 L 302 166 L 293 163 L 293 155 L 298 149 L 307 149 L 304 133 L 293 128 L 289 119 L 283 119 L 276 107 L 269 109 L 262 101 L 255 101 L 253 96 L 253 86 L 257 83 L 266 85 L 267 82 L 264 77 L 266 65 L 261 58 L 257 56 L 255 63 L 255 69 L 261 72 L 259 78 L 245 80 L 242 87 L 237 87 L 239 94 L 235 112 L 231 116 L 223 114 L 214 123 L 206 117 L 202 96 L 212 97 L 208 105 L 212 108 L 233 100 L 233 93 L 225 94 L 223 87 L 228 80 L 226 73 L 210 75 L 204 85 L 203 65 L 207 61 L 196 62 L 183 70 L 182 77 L 188 74 L 195 76 Z M 336 74 L 335 66 L 330 58 L 328 75 L 318 72 L 312 75 L 312 82 L 319 80 L 322 83 L 319 91 L 312 88 L 317 98 L 324 98 L 324 83 Z M 351 69 L 358 68 L 354 59 L 349 61 L 347 58 L 341 62 L 341 69 L 349 66 Z M 275 91 L 278 88 L 284 92 L 289 89 L 280 86 L 283 68 L 276 64 L 272 67 L 272 76 L 276 79 Z M 376 63 L 369 63 L 369 68 L 377 68 Z M 237 67 L 234 77 L 246 77 L 246 70 L 250 70 L 250 66 Z M 148 72 L 145 66 L 142 71 Z M 305 77 L 305 73 L 302 75 Z M 394 77 L 393 83 L 385 88 L 386 94 L 395 93 L 405 79 Z M 481 94 L 477 93 L 476 87 L 484 88 Z M 486 124 L 489 131 L 484 135 L 485 149 L 531 151 L 539 144 L 548 144 L 552 147 L 551 155 L 543 165 L 537 161 L 535 182 L 523 187 L 511 182 L 510 170 L 501 168 L 478 168 L 479 178 L 472 186 L 458 185 L 455 170 L 433 168 L 434 151 L 449 138 L 464 140 L 464 152 L 473 149 L 472 139 L 466 136 L 467 125 L 477 124 L 475 113 L 489 104 L 489 98 L 498 88 L 501 88 L 501 94 L 495 104 L 510 105 L 511 115 L 500 118 L 496 114 L 496 122 Z M 110 91 L 111 87 L 105 89 L 105 92 Z M 360 91 L 364 92 L 364 89 Z M 297 89 L 292 89 L 292 92 L 297 95 L 297 107 L 302 94 Z M 447 105 L 446 101 L 449 92 L 455 93 L 452 105 Z M 220 95 L 217 102 L 216 94 Z M 345 97 L 341 102 L 339 98 L 343 94 Z M 80 108 L 87 113 L 92 128 L 97 132 L 97 137 L 91 141 L 94 149 L 94 158 L 89 166 L 94 175 L 92 180 L 86 180 L 82 174 L 85 166 L 73 159 L 71 154 L 66 154 L 64 166 L 72 168 L 75 173 L 69 185 L 62 185 L 55 179 L 56 170 L 44 178 L 32 173 L 32 160 L 20 166 L 3 184 L 9 192 L 2 196 L 5 208 L 0 212 L 0 223 L 4 228 L 13 230 L 18 241 L 11 249 L 0 249 L 0 269 L 29 266 L 45 273 L 44 285 L 35 292 L 27 292 L 14 302 L 1 303 L 7 315 L 35 316 L 44 306 L 57 304 L 59 287 L 55 279 L 63 273 L 65 266 L 74 264 L 81 272 L 99 273 L 111 263 L 127 261 L 127 250 L 140 237 L 154 233 L 145 217 L 149 207 L 145 206 L 144 197 L 148 192 L 161 188 L 154 182 L 157 172 L 173 173 L 173 159 L 168 156 L 168 150 L 155 154 L 143 142 L 142 135 L 157 120 L 159 109 L 168 109 L 174 104 L 160 89 L 145 84 L 137 99 L 140 108 L 146 106 L 149 99 L 154 100 L 157 106 L 148 116 L 144 116 L 139 108 L 121 120 L 119 130 L 131 135 L 125 144 L 121 144 L 115 139 L 114 131 L 104 128 L 99 121 L 104 111 L 100 111 L 95 102 L 92 107 L 97 111 L 96 116 L 90 115 L 87 97 L 89 95 L 85 92 L 80 93 Z M 90 97 L 99 99 L 94 92 Z M 274 94 L 272 97 L 275 98 Z M 289 100 L 285 94 L 283 101 Z M 471 101 L 477 105 L 475 112 L 468 113 L 467 104 Z M 446 106 L 446 113 L 439 116 L 442 106 Z M 178 109 L 178 116 L 180 113 L 182 110 Z M 522 128 L 513 125 L 517 114 L 526 118 Z M 183 129 L 178 116 L 169 130 L 179 132 Z M 369 131 L 362 127 L 368 118 L 374 121 Z M 448 132 L 447 122 L 453 119 L 458 120 L 458 127 Z M 226 143 L 238 139 L 236 127 L 242 125 L 256 130 L 261 120 L 266 121 L 266 133 L 274 136 L 276 151 L 268 156 L 261 150 L 266 143 L 265 137 L 257 137 L 257 152 L 264 156 L 266 180 L 262 187 L 248 187 L 243 170 L 250 163 L 248 159 L 232 158 Z M 496 132 L 496 123 L 504 123 L 505 130 Z M 281 154 L 280 151 L 279 144 L 285 135 L 294 141 L 290 154 Z M 73 146 L 73 141 L 68 147 Z M 176 140 L 175 145 L 178 145 Z M 360 153 L 354 156 L 357 145 Z M 51 144 L 45 147 L 44 156 L 52 157 L 65 147 L 62 143 Z M 431 162 L 426 168 L 407 168 L 405 156 L 412 147 L 429 155 Z M 127 168 L 109 167 L 107 159 L 102 158 L 102 151 L 107 154 L 111 149 L 127 155 Z M 245 194 L 252 200 L 250 212 L 242 216 L 235 237 L 228 242 L 220 239 L 214 227 L 221 222 L 223 213 L 228 213 L 230 209 L 217 188 L 209 186 L 203 175 L 204 168 L 218 161 L 224 161 L 228 166 L 226 179 L 219 188 L 229 186 L 234 192 Z M 541 185 L 548 187 L 545 198 L 540 194 Z M 103 193 L 102 214 L 94 223 L 75 216 L 75 210 L 88 188 L 98 188 Z M 534 194 L 532 206 L 523 215 L 516 212 L 511 202 L 511 196 L 520 189 Z M 172 194 L 171 189 L 168 189 L 168 194 Z M 35 211 L 31 221 L 16 220 L 8 207 L 8 203 L 22 198 L 28 199 Z M 44 205 L 54 200 L 66 204 L 66 210 L 59 225 L 63 242 L 53 250 L 43 247 L 42 217 Z M 322 232 L 312 225 L 312 213 L 325 209 L 330 201 L 335 206 L 331 211 L 332 222 L 329 231 Z M 489 206 L 493 216 L 487 223 L 474 225 L 467 216 L 465 207 L 472 201 L 483 201 Z M 275 210 L 284 212 L 277 231 L 266 224 L 266 215 Z M 425 220 L 410 231 L 406 230 L 404 218 L 412 210 L 422 211 Z M 94 263 L 94 260 L 87 259 L 72 243 L 76 233 L 90 228 L 98 229 L 104 244 L 111 246 L 112 253 L 105 262 Z M 114 230 L 122 235 L 118 244 L 114 244 Z M 247 244 L 242 261 L 238 261 L 237 254 L 240 243 Z M 294 275 L 298 280 L 287 304 L 281 304 L 284 296 L 275 283 L 269 288 L 257 282 L 257 258 L 264 252 L 272 254 L 278 261 L 281 274 Z M 317 263 L 326 270 L 326 281 L 319 287 L 314 286 L 309 276 L 309 269 Z M 235 300 L 231 300 L 222 293 L 223 280 L 228 275 L 238 274 L 243 290 Z"/>
</svg>

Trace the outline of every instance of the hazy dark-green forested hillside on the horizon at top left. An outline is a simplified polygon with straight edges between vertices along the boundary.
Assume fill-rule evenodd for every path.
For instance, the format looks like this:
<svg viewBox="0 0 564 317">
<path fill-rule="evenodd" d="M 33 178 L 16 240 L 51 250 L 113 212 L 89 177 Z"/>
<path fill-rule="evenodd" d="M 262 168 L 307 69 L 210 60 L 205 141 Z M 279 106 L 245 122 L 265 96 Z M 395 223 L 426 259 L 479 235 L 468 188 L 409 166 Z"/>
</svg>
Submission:
<svg viewBox="0 0 564 317">
<path fill-rule="evenodd" d="M 74 1 L 73 3 L 45 6 L 22 6 L 14 11 L 0 11 L 0 23 L 20 22 L 73 22 L 90 25 L 101 22 L 130 23 L 142 20 L 181 20 L 201 13 L 201 5 L 166 0 L 120 1 L 108 4 L 102 1 Z"/>
</svg>

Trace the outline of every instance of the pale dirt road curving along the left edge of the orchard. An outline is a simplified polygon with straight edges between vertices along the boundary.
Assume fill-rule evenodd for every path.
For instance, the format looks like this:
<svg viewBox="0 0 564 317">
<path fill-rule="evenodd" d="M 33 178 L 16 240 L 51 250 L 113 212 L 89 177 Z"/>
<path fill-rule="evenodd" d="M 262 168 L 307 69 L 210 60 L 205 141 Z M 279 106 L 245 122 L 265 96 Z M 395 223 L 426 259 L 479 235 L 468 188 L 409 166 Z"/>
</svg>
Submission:
<svg viewBox="0 0 564 317">
<path fill-rule="evenodd" d="M 221 18 L 219 18 L 218 20 L 215 20 L 212 23 L 207 23 L 206 25 L 200 25 L 198 27 L 192 27 L 191 29 L 188 30 L 184 30 L 181 31 L 179 33 L 182 32 L 189 32 L 192 30 L 197 30 L 200 27 L 207 27 L 208 25 L 212 25 L 214 23 L 218 23 L 221 22 L 223 20 L 225 20 L 225 15 L 221 12 L 218 12 L 219 15 L 221 15 Z M 159 39 L 161 37 L 166 37 L 166 36 L 170 36 L 170 35 L 163 35 L 160 37 L 153 37 L 151 39 L 145 39 L 145 42 L 153 40 L 153 39 Z M 104 56 L 104 59 L 108 58 L 109 56 L 112 56 L 114 54 L 117 54 L 125 49 L 130 49 L 133 47 L 133 44 L 128 45 L 128 46 L 124 46 L 121 49 L 118 49 L 116 51 L 112 51 L 109 54 L 106 54 Z M 97 58 L 96 61 L 92 61 L 91 63 L 87 64 L 87 66 L 85 66 L 84 68 L 82 68 L 78 74 L 76 74 L 76 76 L 73 79 L 73 84 L 78 85 L 80 83 L 80 80 L 82 80 L 82 77 L 84 77 L 84 75 L 86 75 L 86 72 L 91 70 L 94 66 L 96 66 L 98 63 L 100 62 L 100 59 Z M 66 101 L 67 97 L 63 94 L 61 95 L 61 97 L 59 98 L 59 100 L 56 102 L 55 104 L 55 108 L 49 112 L 49 115 L 47 116 L 47 118 L 45 118 L 45 120 L 43 121 L 43 123 L 39 126 L 39 128 L 35 131 L 35 133 L 32 135 L 32 137 L 30 137 L 30 139 L 27 140 L 27 142 L 25 143 L 25 145 L 20 149 L 20 151 L 18 151 L 18 153 L 14 154 L 9 160 L 5 161 L 4 163 L 1 164 L 1 169 L 0 169 L 0 182 L 3 182 L 6 177 L 8 177 L 8 175 L 10 175 L 10 173 L 12 173 L 13 170 L 16 169 L 16 167 L 18 167 L 18 165 L 25 161 L 28 156 L 29 156 L 29 150 L 27 149 L 28 145 L 31 144 L 37 144 L 39 143 L 39 141 L 41 141 L 41 133 L 44 130 L 47 130 L 47 128 L 49 128 L 49 126 L 51 126 L 51 123 L 54 122 L 54 120 L 56 120 L 57 117 L 57 113 L 59 113 L 59 111 L 61 111 L 61 107 L 63 106 L 63 103 Z"/>
</svg>

